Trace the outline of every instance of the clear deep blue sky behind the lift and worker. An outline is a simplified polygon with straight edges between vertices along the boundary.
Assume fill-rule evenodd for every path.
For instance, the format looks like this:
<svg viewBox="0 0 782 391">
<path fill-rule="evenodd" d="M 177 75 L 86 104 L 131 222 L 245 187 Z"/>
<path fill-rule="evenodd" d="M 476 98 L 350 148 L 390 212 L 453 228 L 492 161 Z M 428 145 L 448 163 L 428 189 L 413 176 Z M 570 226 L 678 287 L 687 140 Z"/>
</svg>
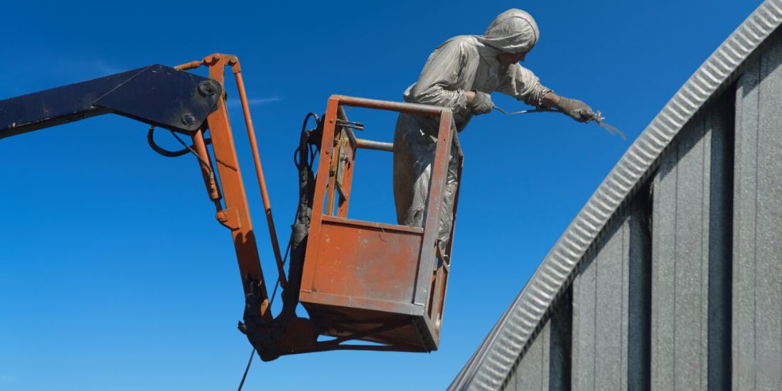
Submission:
<svg viewBox="0 0 782 391">
<path fill-rule="evenodd" d="M 399 100 L 442 41 L 526 9 L 541 38 L 524 65 L 600 109 L 629 140 L 558 114 L 476 117 L 460 135 L 465 170 L 440 350 L 256 361 L 245 385 L 443 389 L 630 142 L 759 3 L 13 2 L 4 5 L 0 99 L 235 54 L 285 241 L 297 191 L 291 156 L 307 112 L 325 111 L 332 93 Z M 231 109 L 265 239 L 241 113 Z M 393 115 L 350 115 L 368 125 L 364 136 L 391 139 Z M 146 128 L 104 116 L 0 140 L 0 389 L 238 385 L 250 346 L 235 329 L 243 297 L 230 236 L 213 220 L 195 161 L 156 155 Z M 350 217 L 393 221 L 390 156 L 368 151 L 358 164 Z M 260 254 L 273 275 L 266 240 Z"/>
</svg>

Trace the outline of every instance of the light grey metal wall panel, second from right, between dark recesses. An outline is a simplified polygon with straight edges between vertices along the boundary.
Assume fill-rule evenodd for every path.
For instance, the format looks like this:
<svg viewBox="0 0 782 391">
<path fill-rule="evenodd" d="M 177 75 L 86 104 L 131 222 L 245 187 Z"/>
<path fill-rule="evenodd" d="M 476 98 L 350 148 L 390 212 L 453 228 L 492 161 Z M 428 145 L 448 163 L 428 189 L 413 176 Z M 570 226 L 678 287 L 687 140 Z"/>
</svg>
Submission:
<svg viewBox="0 0 782 391">
<path fill-rule="evenodd" d="M 662 160 L 652 217 L 652 389 L 705 389 L 708 137 L 702 118 Z M 703 167 L 706 165 L 706 167 Z"/>
</svg>

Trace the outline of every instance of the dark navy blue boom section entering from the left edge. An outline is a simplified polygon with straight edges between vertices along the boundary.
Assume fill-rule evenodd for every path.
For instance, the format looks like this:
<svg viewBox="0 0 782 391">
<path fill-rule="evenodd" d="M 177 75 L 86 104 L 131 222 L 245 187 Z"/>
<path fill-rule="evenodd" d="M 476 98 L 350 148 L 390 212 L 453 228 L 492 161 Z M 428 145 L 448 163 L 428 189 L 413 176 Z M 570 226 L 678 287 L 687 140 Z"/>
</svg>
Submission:
<svg viewBox="0 0 782 391">
<path fill-rule="evenodd" d="M 106 113 L 171 131 L 202 126 L 220 83 L 159 64 L 0 100 L 0 138 Z"/>
</svg>

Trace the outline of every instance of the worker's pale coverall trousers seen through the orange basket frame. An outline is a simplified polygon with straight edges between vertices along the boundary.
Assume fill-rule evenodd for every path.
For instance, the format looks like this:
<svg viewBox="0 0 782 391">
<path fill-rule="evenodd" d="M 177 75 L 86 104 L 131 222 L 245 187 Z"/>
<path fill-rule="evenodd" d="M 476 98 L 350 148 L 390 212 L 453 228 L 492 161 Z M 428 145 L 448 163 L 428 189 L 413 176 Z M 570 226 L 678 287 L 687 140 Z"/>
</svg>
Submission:
<svg viewBox="0 0 782 391">
<path fill-rule="evenodd" d="M 433 129 L 430 129 L 433 127 Z M 429 183 L 436 151 L 436 123 L 401 113 L 396 120 L 393 149 L 393 191 L 396 221 L 410 227 L 423 227 L 429 204 Z M 457 189 L 457 147 L 452 145 L 443 200 L 440 203 L 439 239 L 448 248 L 454 224 L 454 199 Z"/>
</svg>

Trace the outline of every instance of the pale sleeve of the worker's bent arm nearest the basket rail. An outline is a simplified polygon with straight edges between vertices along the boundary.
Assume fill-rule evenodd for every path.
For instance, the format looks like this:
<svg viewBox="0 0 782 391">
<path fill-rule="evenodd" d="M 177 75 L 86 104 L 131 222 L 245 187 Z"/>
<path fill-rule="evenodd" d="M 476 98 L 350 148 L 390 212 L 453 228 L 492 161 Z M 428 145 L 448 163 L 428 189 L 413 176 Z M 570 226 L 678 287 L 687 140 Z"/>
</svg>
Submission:
<svg viewBox="0 0 782 391">
<path fill-rule="evenodd" d="M 461 41 L 448 41 L 432 52 L 410 90 L 409 102 L 465 110 L 467 96 L 460 88 L 459 77 L 469 62 L 463 45 Z"/>
</svg>

